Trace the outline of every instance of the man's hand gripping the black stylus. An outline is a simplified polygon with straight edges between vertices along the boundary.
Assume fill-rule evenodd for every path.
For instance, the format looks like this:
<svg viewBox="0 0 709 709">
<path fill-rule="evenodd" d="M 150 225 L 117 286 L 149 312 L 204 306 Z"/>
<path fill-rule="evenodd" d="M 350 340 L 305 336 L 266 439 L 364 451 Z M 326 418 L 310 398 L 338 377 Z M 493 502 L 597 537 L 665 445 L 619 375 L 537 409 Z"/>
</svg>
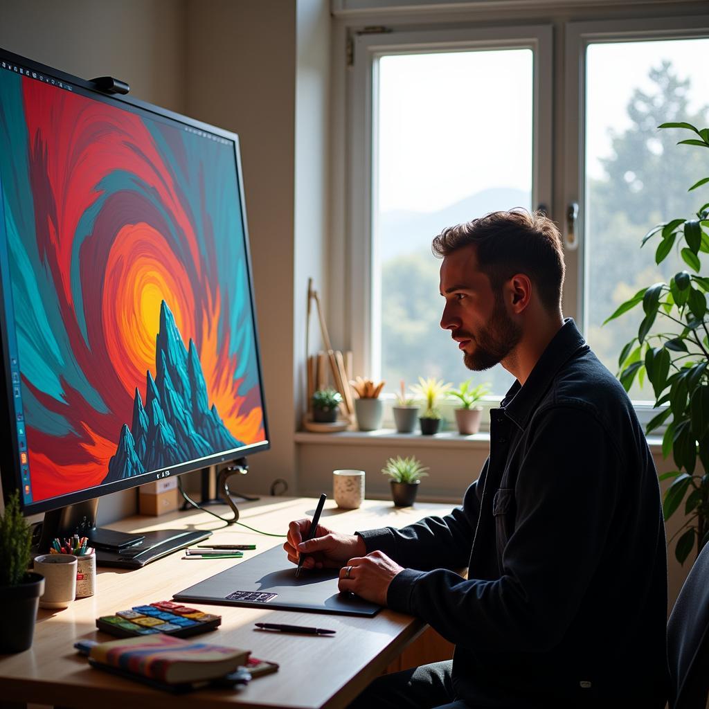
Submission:
<svg viewBox="0 0 709 709">
<path fill-rule="evenodd" d="M 362 537 L 333 532 L 323 525 L 318 525 L 313 539 L 303 542 L 310 527 L 311 520 L 308 519 L 291 522 L 288 525 L 288 541 L 283 545 L 289 561 L 294 564 L 298 563 L 301 554 L 307 554 L 303 559 L 303 569 L 339 569 L 347 559 L 367 554 Z"/>
</svg>

